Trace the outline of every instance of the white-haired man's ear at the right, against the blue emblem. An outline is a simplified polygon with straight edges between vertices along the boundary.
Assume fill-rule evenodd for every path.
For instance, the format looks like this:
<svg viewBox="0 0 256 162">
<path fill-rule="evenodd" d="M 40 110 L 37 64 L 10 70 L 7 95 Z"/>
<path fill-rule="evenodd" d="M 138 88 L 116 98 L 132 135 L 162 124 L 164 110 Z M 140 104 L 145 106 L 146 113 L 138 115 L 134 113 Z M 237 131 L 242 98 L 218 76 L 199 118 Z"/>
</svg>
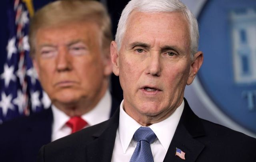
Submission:
<svg viewBox="0 0 256 162">
<path fill-rule="evenodd" d="M 198 70 L 200 69 L 200 67 L 203 63 L 203 60 L 204 60 L 204 56 L 203 56 L 202 51 L 198 51 L 194 54 L 192 63 L 190 65 L 190 72 L 189 72 L 189 76 L 188 76 L 188 80 L 187 80 L 187 85 L 192 84 L 194 78 L 196 77 Z"/>
</svg>

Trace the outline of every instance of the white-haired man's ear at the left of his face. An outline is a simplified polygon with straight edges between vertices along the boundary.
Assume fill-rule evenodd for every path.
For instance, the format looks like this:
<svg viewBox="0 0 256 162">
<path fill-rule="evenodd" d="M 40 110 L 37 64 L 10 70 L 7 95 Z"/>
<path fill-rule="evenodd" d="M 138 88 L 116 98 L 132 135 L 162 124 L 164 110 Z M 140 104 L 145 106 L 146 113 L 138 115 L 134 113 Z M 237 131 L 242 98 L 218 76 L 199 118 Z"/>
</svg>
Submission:
<svg viewBox="0 0 256 162">
<path fill-rule="evenodd" d="M 115 41 L 111 42 L 110 53 L 111 53 L 111 61 L 112 61 L 113 73 L 116 76 L 119 76 L 119 61 L 118 61 L 119 57 L 118 57 L 117 44 L 116 44 Z"/>
</svg>

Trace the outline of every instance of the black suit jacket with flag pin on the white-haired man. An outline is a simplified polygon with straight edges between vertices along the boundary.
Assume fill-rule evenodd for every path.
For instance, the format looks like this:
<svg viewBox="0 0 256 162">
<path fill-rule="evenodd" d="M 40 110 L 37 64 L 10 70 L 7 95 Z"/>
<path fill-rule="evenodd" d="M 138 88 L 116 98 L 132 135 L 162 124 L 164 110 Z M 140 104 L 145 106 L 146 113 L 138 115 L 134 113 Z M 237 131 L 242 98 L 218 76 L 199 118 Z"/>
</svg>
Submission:
<svg viewBox="0 0 256 162">
<path fill-rule="evenodd" d="M 38 162 L 110 162 L 119 109 L 107 120 L 43 146 Z M 186 160 L 175 156 L 176 147 Z M 256 139 L 184 111 L 164 162 L 256 162 Z"/>
</svg>

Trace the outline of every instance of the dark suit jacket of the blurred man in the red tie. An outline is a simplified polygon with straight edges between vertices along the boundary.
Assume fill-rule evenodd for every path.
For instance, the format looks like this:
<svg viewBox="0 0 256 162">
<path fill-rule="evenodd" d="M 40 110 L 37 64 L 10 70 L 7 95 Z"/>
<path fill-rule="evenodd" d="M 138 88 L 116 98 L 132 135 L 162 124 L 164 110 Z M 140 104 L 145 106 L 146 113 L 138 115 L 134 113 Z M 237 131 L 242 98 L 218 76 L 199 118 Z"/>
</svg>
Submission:
<svg viewBox="0 0 256 162">
<path fill-rule="evenodd" d="M 112 97 L 112 116 L 120 103 Z M 52 109 L 0 125 L 0 162 L 35 162 L 39 149 L 51 142 Z"/>
</svg>

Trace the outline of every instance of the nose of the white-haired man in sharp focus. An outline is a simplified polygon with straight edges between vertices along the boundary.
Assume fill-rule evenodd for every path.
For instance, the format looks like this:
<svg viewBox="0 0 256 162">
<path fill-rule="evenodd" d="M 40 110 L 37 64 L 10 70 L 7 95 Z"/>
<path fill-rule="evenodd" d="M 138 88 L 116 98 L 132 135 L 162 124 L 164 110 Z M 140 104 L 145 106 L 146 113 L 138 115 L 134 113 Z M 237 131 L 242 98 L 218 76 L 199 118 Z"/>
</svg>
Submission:
<svg viewBox="0 0 256 162">
<path fill-rule="evenodd" d="M 147 59 L 146 73 L 152 76 L 160 76 L 161 70 L 160 54 L 151 52 Z"/>
</svg>

